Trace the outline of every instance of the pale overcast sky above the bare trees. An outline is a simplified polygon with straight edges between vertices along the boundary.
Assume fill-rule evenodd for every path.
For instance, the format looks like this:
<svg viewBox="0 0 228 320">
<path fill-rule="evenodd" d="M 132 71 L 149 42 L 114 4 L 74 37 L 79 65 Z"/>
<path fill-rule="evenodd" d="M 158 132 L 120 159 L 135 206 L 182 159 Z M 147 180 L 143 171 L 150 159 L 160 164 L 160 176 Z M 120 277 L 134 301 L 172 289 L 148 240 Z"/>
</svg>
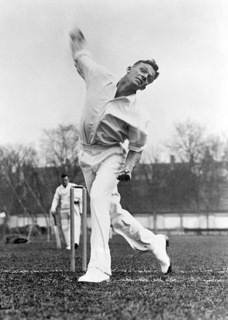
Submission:
<svg viewBox="0 0 228 320">
<path fill-rule="evenodd" d="M 38 143 L 43 128 L 78 123 L 85 85 L 68 32 L 117 76 L 153 57 L 160 76 L 138 99 L 150 140 L 187 118 L 228 132 L 227 0 L 0 0 L 0 144 Z"/>
</svg>

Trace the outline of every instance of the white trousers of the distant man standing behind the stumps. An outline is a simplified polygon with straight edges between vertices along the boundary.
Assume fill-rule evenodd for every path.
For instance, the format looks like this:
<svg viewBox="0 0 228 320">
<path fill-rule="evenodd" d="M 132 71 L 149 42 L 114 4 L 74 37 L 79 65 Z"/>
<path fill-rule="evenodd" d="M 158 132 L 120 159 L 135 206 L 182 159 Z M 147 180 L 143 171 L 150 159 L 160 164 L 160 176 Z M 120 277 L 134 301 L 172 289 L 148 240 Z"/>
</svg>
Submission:
<svg viewBox="0 0 228 320">
<path fill-rule="evenodd" d="M 64 213 L 62 214 L 62 211 Z M 62 232 L 64 234 L 66 246 L 70 245 L 70 209 L 61 210 Z M 81 231 L 81 214 L 79 206 L 74 205 L 74 243 L 79 244 Z"/>
</svg>

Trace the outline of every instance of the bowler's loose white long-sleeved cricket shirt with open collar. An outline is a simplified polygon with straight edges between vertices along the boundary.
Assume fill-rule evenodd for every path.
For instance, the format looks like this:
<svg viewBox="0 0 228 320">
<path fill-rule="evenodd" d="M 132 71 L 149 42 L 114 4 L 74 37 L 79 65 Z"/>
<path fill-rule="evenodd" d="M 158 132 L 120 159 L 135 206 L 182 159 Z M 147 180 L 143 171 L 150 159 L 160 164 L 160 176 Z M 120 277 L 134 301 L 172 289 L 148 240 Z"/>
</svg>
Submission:
<svg viewBox="0 0 228 320">
<path fill-rule="evenodd" d="M 87 88 L 80 140 L 111 146 L 128 139 L 129 150 L 142 151 L 149 121 L 136 94 L 114 98 L 118 80 L 107 68 L 94 62 L 88 50 L 74 52 L 73 58 Z"/>
</svg>

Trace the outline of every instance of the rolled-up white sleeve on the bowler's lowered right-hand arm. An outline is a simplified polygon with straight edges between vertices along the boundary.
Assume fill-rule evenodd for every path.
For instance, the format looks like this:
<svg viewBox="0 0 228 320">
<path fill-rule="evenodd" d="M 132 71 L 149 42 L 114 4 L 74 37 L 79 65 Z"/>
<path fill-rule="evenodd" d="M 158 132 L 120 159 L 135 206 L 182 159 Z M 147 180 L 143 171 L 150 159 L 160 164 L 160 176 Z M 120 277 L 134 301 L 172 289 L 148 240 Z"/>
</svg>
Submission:
<svg viewBox="0 0 228 320">
<path fill-rule="evenodd" d="M 128 148 L 131 151 L 141 152 L 144 150 L 144 145 L 147 142 L 148 136 L 148 123 L 143 114 L 138 122 L 137 126 L 129 125 L 128 126 Z"/>
</svg>

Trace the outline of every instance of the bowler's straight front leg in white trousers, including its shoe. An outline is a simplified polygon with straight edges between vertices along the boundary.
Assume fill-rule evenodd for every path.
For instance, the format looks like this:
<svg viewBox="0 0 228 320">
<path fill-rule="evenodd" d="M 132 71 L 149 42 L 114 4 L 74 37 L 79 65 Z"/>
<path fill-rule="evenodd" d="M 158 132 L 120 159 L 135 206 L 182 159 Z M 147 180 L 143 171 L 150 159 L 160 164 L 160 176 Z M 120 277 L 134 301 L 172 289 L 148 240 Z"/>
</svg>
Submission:
<svg viewBox="0 0 228 320">
<path fill-rule="evenodd" d="M 91 208 L 91 254 L 87 272 L 81 276 L 78 281 L 100 282 L 109 279 L 111 275 L 111 256 L 109 250 L 109 231 L 110 231 L 110 203 L 112 191 L 118 183 L 117 174 L 123 165 L 122 149 L 113 147 L 109 149 L 94 150 L 90 156 L 83 154 L 84 161 L 81 167 L 84 173 L 86 185 L 90 193 Z M 89 168 L 85 166 L 85 160 L 93 168 L 95 178 L 90 182 Z"/>
</svg>

